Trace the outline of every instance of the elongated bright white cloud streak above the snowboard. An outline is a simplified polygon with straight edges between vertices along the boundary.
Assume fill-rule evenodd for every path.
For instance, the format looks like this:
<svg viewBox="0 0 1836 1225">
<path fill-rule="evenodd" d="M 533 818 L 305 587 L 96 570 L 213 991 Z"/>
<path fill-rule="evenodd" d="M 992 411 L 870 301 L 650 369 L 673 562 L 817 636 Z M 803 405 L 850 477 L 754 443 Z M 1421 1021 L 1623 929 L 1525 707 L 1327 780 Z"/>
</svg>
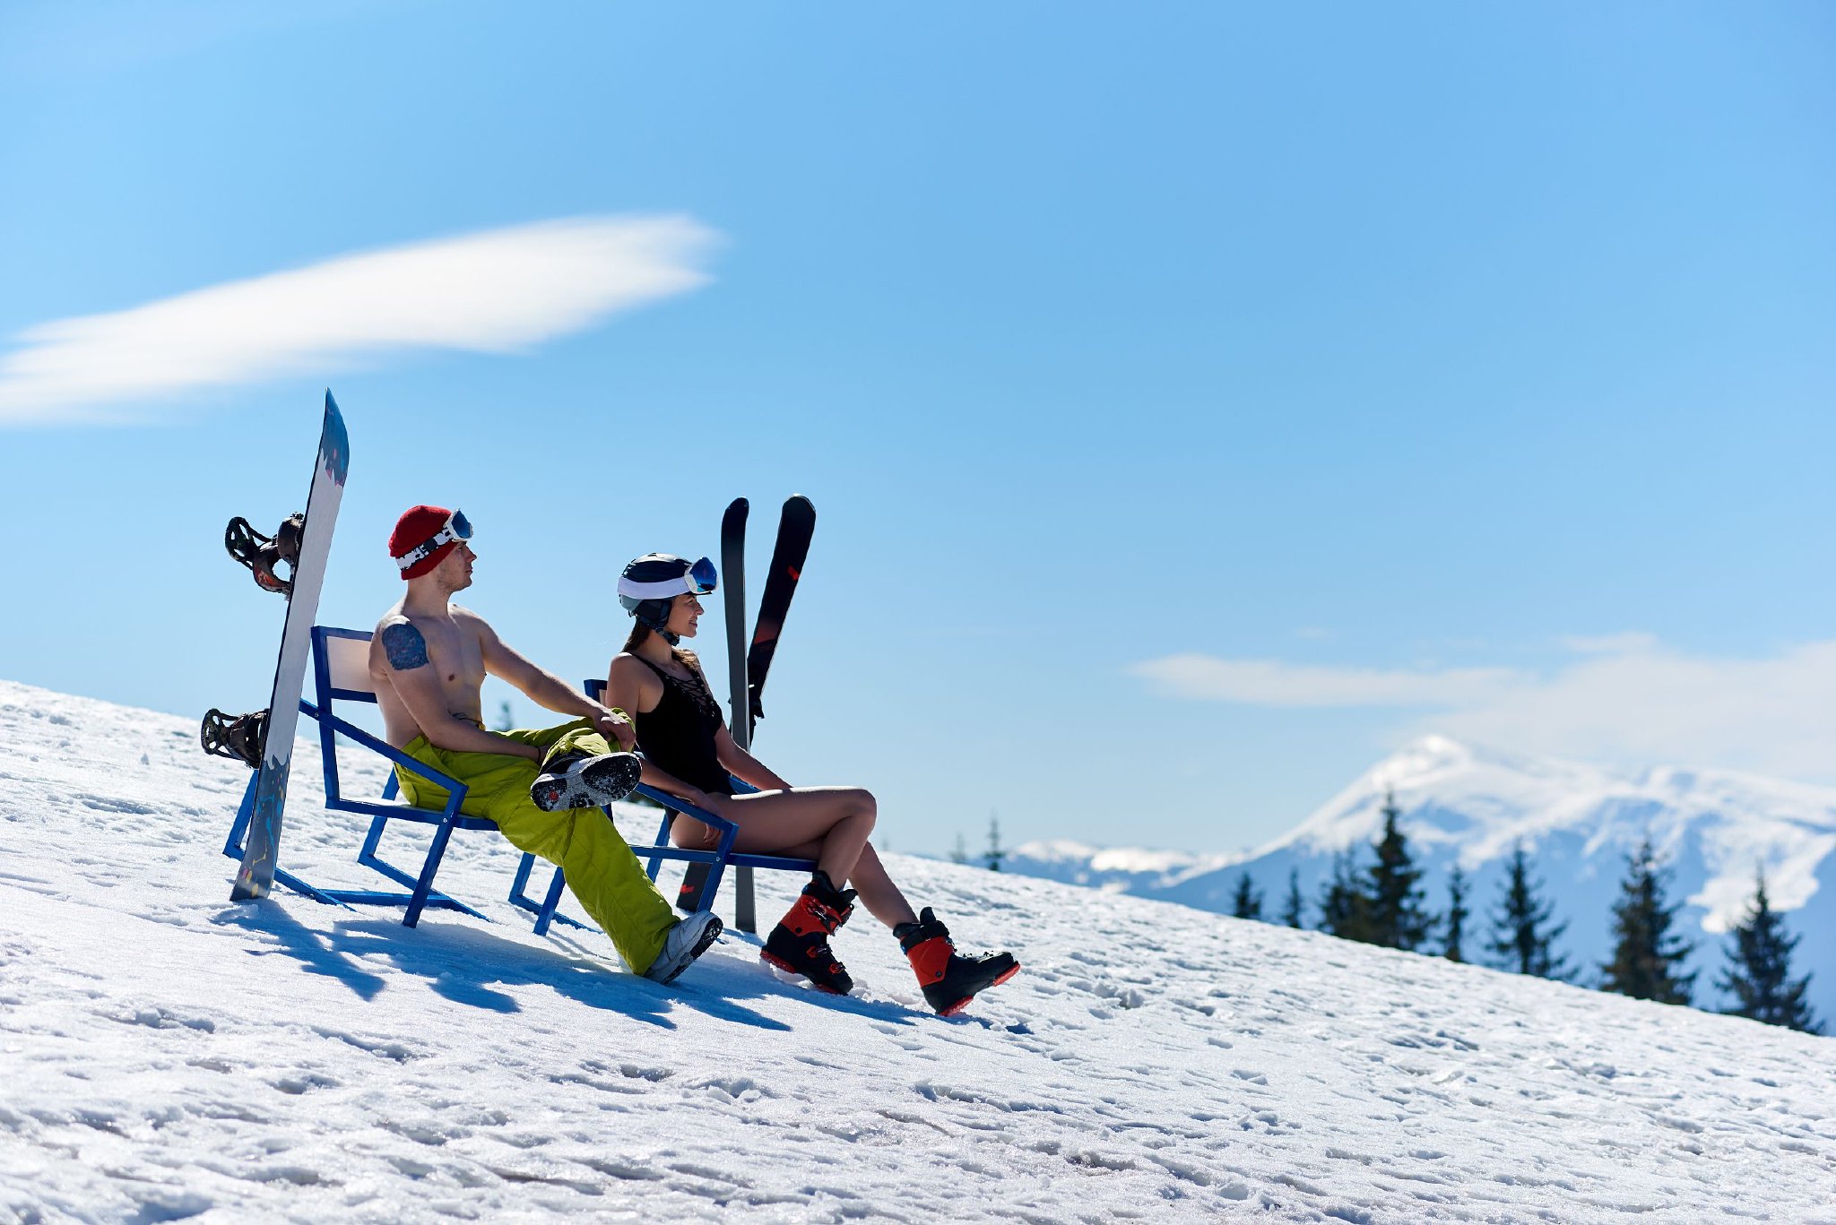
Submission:
<svg viewBox="0 0 1836 1225">
<path fill-rule="evenodd" d="M 521 351 L 705 285 L 714 239 L 687 217 L 578 217 L 39 323 L 0 358 L 0 426 L 105 421 L 105 404 L 329 376 L 389 351 Z"/>
</svg>

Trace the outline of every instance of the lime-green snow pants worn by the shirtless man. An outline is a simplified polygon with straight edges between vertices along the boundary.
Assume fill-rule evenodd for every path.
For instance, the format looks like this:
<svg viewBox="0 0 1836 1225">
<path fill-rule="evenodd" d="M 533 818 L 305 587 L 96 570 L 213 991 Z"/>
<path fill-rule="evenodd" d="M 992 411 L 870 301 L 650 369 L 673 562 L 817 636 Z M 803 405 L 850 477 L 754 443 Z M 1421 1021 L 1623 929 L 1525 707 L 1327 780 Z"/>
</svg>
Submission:
<svg viewBox="0 0 1836 1225">
<path fill-rule="evenodd" d="M 560 753 L 610 753 L 611 746 L 580 718 L 542 731 L 507 731 L 510 740 L 545 747 L 543 760 Z M 600 931 L 611 937 L 619 957 L 633 973 L 650 970 L 663 951 L 663 937 L 676 926 L 676 913 L 644 876 L 632 847 L 600 808 L 542 812 L 529 799 L 529 784 L 542 768 L 527 757 L 505 753 L 450 753 L 415 736 L 404 749 L 422 766 L 466 784 L 459 812 L 487 817 L 503 830 L 518 850 L 558 863 L 567 872 L 567 887 Z M 444 808 L 448 792 L 400 766 L 395 777 L 402 797 L 417 808 Z"/>
</svg>

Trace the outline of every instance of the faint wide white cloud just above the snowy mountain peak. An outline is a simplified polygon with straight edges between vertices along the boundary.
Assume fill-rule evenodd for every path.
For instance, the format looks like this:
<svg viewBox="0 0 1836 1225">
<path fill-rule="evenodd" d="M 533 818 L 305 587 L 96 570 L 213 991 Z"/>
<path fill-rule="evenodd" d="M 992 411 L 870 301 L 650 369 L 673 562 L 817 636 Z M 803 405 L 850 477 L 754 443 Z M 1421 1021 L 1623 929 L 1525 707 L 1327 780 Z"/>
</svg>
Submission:
<svg viewBox="0 0 1836 1225">
<path fill-rule="evenodd" d="M 1177 698 L 1432 711 L 1414 716 L 1399 735 L 1443 731 L 1548 757 L 1836 779 L 1836 639 L 1764 659 L 1684 656 L 1636 634 L 1592 643 L 1594 654 L 1546 676 L 1320 669 L 1212 656 L 1151 659 L 1133 672 Z"/>
</svg>

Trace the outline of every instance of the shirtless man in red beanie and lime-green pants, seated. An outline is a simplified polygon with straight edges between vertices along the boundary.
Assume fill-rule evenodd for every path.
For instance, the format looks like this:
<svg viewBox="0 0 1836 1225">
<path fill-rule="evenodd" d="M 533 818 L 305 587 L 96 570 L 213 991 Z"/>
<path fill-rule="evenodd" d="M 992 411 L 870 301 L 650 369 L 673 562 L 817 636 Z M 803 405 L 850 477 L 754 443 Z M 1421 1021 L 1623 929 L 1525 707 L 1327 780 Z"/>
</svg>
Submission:
<svg viewBox="0 0 1836 1225">
<path fill-rule="evenodd" d="M 516 654 L 483 617 L 452 602 L 472 586 L 472 525 L 465 514 L 413 507 L 389 534 L 408 593 L 376 623 L 369 676 L 386 738 L 417 762 L 466 784 L 466 815 L 488 817 L 518 850 L 567 872 L 567 887 L 624 962 L 659 983 L 688 968 L 720 935 L 701 911 L 677 920 L 599 804 L 637 782 L 632 720 Z M 485 731 L 485 674 L 575 720 L 542 731 Z M 402 797 L 441 808 L 446 790 L 397 766 Z"/>
</svg>

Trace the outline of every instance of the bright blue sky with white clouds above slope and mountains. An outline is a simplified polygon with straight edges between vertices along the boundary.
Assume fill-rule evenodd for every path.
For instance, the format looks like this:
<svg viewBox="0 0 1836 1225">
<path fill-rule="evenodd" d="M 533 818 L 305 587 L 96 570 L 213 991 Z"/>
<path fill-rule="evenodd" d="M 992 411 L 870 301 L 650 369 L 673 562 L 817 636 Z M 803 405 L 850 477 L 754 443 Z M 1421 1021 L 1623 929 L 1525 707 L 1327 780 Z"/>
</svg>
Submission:
<svg viewBox="0 0 1836 1225">
<path fill-rule="evenodd" d="M 808 494 L 758 749 L 894 849 L 1427 729 L 1836 781 L 1830 132 L 1821 4 L 11 4 L 0 676 L 261 705 L 330 386 L 321 621 L 461 505 L 569 678 Z"/>
</svg>

